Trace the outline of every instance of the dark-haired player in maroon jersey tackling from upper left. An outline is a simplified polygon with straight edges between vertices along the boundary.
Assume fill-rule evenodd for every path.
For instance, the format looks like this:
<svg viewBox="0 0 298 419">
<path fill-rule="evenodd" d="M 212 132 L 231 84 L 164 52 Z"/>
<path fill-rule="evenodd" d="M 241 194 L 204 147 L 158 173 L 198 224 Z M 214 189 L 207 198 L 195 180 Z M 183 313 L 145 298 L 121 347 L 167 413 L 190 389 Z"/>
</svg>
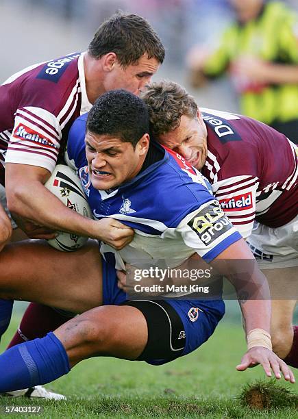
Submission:
<svg viewBox="0 0 298 419">
<path fill-rule="evenodd" d="M 123 88 L 140 94 L 163 60 L 162 42 L 145 19 L 115 14 L 101 24 L 88 51 L 34 64 L 3 82 L 0 250 L 10 236 L 12 240 L 24 237 L 17 226 L 30 238 L 52 238 L 55 231 L 63 230 L 103 240 L 115 249 L 132 240 L 132 229 L 109 218 L 84 218 L 64 206 L 44 183 L 62 158 L 75 118 L 88 112 L 108 90 Z M 13 232 L 3 208 L 11 218 Z M 49 310 L 35 305 L 32 318 L 47 322 L 53 316 Z M 12 302 L 0 300 L 0 338 L 11 311 Z M 61 321 L 65 319 L 52 318 L 51 327 Z"/>
</svg>

